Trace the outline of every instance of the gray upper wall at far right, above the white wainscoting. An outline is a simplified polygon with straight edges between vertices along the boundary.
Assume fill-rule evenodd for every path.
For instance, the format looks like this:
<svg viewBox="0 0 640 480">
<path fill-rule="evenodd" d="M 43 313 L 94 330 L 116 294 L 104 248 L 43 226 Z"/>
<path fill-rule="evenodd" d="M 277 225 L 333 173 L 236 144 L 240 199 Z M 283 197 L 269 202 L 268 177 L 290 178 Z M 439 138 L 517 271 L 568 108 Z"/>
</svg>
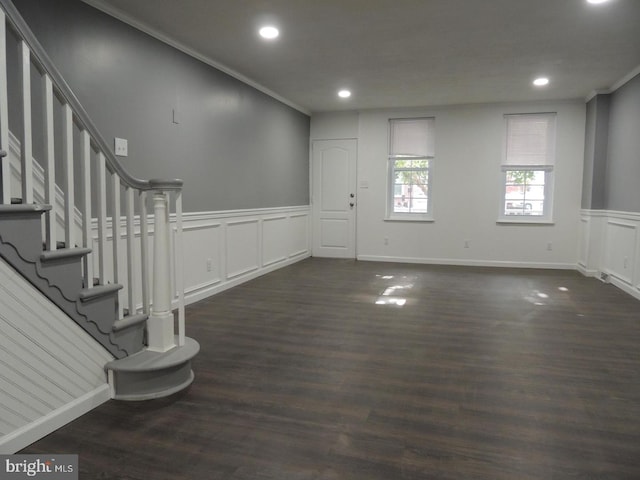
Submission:
<svg viewBox="0 0 640 480">
<path fill-rule="evenodd" d="M 640 212 L 640 75 L 611 95 L 605 208 Z"/>
</svg>

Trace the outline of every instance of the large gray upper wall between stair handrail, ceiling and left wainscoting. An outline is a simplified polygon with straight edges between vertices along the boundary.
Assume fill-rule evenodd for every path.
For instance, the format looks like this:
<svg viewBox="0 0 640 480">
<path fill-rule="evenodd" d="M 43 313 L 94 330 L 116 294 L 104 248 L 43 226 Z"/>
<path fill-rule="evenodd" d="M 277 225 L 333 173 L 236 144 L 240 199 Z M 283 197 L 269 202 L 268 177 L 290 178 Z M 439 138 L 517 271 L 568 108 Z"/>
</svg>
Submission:
<svg viewBox="0 0 640 480">
<path fill-rule="evenodd" d="M 79 0 L 14 4 L 129 172 L 184 179 L 185 211 L 309 203 L 307 115 Z"/>
</svg>

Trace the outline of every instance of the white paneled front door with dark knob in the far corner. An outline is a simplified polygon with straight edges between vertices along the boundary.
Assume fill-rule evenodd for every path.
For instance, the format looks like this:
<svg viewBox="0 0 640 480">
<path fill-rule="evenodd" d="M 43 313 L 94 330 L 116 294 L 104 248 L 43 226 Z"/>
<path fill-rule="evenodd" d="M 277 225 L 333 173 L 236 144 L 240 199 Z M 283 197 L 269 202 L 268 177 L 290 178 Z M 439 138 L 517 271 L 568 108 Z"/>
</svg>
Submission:
<svg viewBox="0 0 640 480">
<path fill-rule="evenodd" d="M 356 140 L 313 142 L 315 257 L 356 257 L 356 154 Z"/>
</svg>

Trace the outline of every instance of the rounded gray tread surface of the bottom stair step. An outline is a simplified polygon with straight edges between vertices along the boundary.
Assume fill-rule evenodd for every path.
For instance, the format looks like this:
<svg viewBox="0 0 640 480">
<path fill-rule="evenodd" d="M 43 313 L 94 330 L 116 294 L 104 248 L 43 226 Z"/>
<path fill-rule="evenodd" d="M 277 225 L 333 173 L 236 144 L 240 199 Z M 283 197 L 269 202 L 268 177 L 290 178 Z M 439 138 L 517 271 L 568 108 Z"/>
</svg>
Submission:
<svg viewBox="0 0 640 480">
<path fill-rule="evenodd" d="M 105 365 L 105 369 L 116 372 L 150 372 L 163 370 L 191 360 L 200 351 L 200 344 L 194 339 L 185 337 L 184 345 L 174 347 L 167 352 L 142 350 Z"/>
</svg>

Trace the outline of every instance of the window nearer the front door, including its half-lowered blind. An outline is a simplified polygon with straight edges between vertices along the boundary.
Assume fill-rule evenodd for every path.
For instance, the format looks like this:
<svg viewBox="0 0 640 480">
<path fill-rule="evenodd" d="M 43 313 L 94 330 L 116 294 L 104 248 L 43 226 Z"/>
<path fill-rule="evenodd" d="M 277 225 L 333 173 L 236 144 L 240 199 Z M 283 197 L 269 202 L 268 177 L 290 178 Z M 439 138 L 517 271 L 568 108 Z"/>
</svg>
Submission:
<svg viewBox="0 0 640 480">
<path fill-rule="evenodd" d="M 434 118 L 389 120 L 389 219 L 432 219 L 434 124 Z"/>
</svg>

